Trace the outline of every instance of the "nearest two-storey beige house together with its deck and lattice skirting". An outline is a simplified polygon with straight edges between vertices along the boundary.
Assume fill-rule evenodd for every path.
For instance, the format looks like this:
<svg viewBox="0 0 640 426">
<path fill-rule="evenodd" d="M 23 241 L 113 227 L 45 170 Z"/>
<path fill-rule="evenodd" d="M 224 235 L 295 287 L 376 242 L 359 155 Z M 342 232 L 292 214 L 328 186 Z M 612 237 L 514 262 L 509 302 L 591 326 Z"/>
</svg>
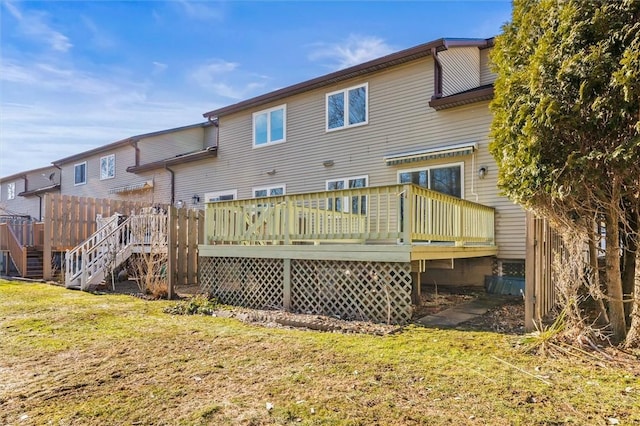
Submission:
<svg viewBox="0 0 640 426">
<path fill-rule="evenodd" d="M 440 39 L 204 114 L 204 287 L 403 322 L 421 282 L 522 274 L 524 212 L 488 151 L 491 47 Z"/>
</svg>

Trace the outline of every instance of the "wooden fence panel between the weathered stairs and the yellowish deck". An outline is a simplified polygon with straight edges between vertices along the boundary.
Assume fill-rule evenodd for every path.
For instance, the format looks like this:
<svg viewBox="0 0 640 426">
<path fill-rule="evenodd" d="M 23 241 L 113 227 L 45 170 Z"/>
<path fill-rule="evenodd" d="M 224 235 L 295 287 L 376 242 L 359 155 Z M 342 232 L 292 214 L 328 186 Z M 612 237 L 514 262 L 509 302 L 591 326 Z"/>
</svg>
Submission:
<svg viewBox="0 0 640 426">
<path fill-rule="evenodd" d="M 169 207 L 167 276 L 169 297 L 185 285 L 198 285 L 198 244 L 204 243 L 204 212 Z"/>
</svg>

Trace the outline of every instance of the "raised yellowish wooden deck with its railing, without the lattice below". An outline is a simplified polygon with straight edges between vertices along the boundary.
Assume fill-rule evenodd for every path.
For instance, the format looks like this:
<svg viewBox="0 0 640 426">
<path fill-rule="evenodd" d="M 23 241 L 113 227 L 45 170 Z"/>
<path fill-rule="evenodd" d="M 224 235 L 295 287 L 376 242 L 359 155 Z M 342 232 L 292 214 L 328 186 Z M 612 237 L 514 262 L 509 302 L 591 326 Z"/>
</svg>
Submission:
<svg viewBox="0 0 640 426">
<path fill-rule="evenodd" d="M 388 185 L 209 203 L 200 256 L 412 262 L 497 253 L 494 209 Z"/>
</svg>

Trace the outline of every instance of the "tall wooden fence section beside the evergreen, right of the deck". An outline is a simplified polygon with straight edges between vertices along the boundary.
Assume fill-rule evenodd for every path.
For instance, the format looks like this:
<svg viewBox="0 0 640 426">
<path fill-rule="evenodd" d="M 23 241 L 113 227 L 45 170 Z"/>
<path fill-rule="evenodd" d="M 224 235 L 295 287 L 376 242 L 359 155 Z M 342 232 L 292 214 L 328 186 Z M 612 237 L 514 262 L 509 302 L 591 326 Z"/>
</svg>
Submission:
<svg viewBox="0 0 640 426">
<path fill-rule="evenodd" d="M 527 212 L 526 229 L 525 330 L 530 332 L 557 302 L 553 264 L 562 251 L 562 239 L 547 220 L 531 212 Z"/>
</svg>

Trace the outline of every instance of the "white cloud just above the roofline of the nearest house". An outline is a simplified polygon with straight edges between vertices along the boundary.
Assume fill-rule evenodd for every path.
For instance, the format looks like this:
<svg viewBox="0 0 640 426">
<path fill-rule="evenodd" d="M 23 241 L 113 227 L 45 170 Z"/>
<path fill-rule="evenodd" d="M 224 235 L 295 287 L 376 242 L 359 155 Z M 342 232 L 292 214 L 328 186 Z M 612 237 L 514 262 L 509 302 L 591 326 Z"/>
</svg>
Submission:
<svg viewBox="0 0 640 426">
<path fill-rule="evenodd" d="M 378 37 L 350 35 L 342 43 L 318 43 L 309 54 L 312 61 L 328 61 L 332 69 L 343 69 L 379 58 L 394 52 L 391 46 Z"/>
</svg>

